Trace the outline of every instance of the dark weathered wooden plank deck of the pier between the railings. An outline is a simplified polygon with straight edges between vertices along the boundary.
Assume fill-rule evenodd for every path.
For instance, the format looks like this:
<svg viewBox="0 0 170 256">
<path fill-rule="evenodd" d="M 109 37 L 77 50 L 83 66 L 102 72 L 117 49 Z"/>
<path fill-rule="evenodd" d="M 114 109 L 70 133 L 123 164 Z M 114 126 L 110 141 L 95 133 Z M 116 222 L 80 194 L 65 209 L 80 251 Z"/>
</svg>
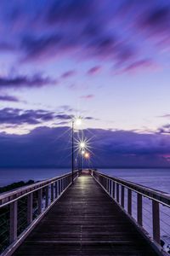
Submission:
<svg viewBox="0 0 170 256">
<path fill-rule="evenodd" d="M 82 174 L 14 256 L 156 255 L 93 177 Z"/>
</svg>

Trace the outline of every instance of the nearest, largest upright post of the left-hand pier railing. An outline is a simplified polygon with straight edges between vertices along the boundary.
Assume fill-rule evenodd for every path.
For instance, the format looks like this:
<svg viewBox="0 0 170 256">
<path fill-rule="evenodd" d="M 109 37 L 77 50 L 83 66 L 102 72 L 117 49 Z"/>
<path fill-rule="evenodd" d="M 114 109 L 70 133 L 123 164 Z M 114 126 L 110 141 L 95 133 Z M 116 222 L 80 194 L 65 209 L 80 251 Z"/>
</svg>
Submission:
<svg viewBox="0 0 170 256">
<path fill-rule="evenodd" d="M 17 207 L 18 202 L 14 201 L 10 204 L 10 230 L 9 230 L 9 241 L 12 243 L 17 239 Z"/>
</svg>

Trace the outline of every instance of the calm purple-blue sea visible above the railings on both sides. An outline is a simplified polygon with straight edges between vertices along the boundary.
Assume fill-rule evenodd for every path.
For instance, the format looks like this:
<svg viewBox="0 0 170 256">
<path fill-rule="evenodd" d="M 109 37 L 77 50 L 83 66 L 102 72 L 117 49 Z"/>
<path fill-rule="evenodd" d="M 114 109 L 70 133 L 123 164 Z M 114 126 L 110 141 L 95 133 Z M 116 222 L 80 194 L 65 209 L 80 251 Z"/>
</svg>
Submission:
<svg viewBox="0 0 170 256">
<path fill-rule="evenodd" d="M 111 177 L 121 177 L 128 181 L 139 183 L 152 189 L 170 193 L 170 168 L 148 168 L 148 169 L 98 169 Z M 0 187 L 19 181 L 42 181 L 50 177 L 57 177 L 71 172 L 71 169 L 0 169 Z"/>
</svg>

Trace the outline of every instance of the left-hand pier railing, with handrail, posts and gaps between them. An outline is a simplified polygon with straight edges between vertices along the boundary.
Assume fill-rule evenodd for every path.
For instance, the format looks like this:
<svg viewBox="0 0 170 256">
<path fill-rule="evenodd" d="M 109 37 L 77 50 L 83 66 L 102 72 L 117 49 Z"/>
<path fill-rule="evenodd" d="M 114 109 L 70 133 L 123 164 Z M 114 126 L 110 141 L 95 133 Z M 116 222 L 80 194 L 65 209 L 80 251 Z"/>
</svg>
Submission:
<svg viewBox="0 0 170 256">
<path fill-rule="evenodd" d="M 80 171 L 74 172 L 74 179 Z M 72 183 L 71 173 L 0 195 L 0 253 L 11 255 Z"/>
</svg>

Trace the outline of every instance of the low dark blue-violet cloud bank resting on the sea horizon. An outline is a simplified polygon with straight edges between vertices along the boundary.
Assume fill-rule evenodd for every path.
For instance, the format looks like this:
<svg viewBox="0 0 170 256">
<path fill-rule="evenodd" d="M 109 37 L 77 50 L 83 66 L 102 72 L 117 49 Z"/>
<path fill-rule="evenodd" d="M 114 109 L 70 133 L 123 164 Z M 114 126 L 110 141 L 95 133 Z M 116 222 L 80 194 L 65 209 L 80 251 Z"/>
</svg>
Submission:
<svg viewBox="0 0 170 256">
<path fill-rule="evenodd" d="M 32 166 L 71 166 L 71 130 L 68 128 L 39 127 L 20 136 L 0 133 L 0 165 L 30 166 L 31 163 Z M 95 134 L 91 140 L 94 152 L 91 161 L 94 166 L 170 165 L 167 159 L 170 137 L 167 135 L 104 129 L 83 132 L 86 137 Z"/>
</svg>

